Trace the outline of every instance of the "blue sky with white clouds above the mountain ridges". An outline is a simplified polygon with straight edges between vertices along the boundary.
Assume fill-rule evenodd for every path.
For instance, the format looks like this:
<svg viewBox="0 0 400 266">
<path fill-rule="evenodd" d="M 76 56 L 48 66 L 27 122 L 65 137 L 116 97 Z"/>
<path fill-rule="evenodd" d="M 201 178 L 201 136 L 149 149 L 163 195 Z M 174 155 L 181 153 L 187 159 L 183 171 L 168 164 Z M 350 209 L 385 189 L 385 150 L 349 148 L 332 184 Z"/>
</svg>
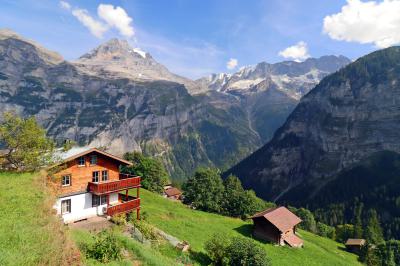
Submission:
<svg viewBox="0 0 400 266">
<path fill-rule="evenodd" d="M 233 72 L 261 61 L 329 54 L 356 59 L 400 42 L 397 30 L 387 26 L 400 27 L 398 0 L 65 0 L 64 7 L 49 0 L 1 2 L 1 28 L 10 28 L 68 60 L 117 37 L 190 78 Z M 109 9 L 100 12 L 101 5 Z M 113 17 L 117 7 L 125 17 Z M 391 12 L 393 19 L 387 16 Z M 78 13 L 103 27 L 97 36 L 78 19 Z M 350 21 L 354 14 L 357 25 Z M 381 25 L 382 17 L 385 24 Z M 378 25 L 370 28 L 374 23 Z"/>
</svg>

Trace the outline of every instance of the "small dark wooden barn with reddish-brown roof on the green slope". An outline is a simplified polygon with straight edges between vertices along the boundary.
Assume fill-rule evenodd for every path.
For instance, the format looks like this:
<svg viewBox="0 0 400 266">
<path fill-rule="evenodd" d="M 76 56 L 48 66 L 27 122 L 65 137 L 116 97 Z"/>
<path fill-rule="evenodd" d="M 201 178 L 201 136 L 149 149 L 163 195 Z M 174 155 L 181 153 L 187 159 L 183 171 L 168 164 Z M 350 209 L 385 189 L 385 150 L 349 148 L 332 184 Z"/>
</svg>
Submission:
<svg viewBox="0 0 400 266">
<path fill-rule="evenodd" d="M 285 207 L 259 212 L 251 217 L 254 237 L 290 247 L 302 247 L 303 240 L 296 235 L 301 219 Z"/>
</svg>

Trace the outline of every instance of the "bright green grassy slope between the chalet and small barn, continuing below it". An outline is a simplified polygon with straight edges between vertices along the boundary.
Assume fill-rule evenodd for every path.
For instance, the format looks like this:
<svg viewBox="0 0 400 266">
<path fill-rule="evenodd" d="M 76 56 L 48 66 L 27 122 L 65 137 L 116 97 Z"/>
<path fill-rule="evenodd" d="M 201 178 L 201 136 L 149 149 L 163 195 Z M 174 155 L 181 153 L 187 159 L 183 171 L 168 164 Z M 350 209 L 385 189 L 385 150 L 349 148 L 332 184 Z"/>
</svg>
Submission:
<svg viewBox="0 0 400 266">
<path fill-rule="evenodd" d="M 191 210 L 179 202 L 141 190 L 142 212 L 148 221 L 165 232 L 188 241 L 195 252 L 204 253 L 204 243 L 214 233 L 251 237 L 251 223 L 240 219 Z M 304 248 L 292 249 L 261 243 L 273 265 L 360 265 L 343 245 L 306 231 L 299 231 Z"/>
</svg>

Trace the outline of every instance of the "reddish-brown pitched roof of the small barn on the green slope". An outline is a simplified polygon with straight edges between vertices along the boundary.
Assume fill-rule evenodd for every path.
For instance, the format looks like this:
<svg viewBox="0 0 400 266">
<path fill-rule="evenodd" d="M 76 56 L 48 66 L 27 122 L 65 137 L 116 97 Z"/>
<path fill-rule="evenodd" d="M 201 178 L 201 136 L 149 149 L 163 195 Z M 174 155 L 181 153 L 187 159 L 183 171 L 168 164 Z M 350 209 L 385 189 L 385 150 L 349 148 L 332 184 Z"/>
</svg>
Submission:
<svg viewBox="0 0 400 266">
<path fill-rule="evenodd" d="M 264 217 L 281 232 L 286 232 L 301 222 L 299 217 L 283 206 L 256 213 L 251 219 L 260 217 Z"/>
</svg>

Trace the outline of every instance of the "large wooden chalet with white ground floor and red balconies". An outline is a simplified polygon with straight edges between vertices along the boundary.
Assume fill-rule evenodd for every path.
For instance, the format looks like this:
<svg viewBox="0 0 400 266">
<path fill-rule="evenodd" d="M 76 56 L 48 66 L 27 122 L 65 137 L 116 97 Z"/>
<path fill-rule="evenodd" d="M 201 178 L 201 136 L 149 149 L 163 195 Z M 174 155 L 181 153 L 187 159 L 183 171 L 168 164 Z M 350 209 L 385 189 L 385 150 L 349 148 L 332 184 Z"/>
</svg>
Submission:
<svg viewBox="0 0 400 266">
<path fill-rule="evenodd" d="M 62 155 L 53 166 L 51 180 L 57 188 L 54 206 L 65 223 L 97 215 L 113 216 L 136 211 L 140 217 L 140 177 L 120 173 L 131 162 L 98 149 L 77 149 Z M 129 195 L 135 189 L 136 196 Z"/>
</svg>

